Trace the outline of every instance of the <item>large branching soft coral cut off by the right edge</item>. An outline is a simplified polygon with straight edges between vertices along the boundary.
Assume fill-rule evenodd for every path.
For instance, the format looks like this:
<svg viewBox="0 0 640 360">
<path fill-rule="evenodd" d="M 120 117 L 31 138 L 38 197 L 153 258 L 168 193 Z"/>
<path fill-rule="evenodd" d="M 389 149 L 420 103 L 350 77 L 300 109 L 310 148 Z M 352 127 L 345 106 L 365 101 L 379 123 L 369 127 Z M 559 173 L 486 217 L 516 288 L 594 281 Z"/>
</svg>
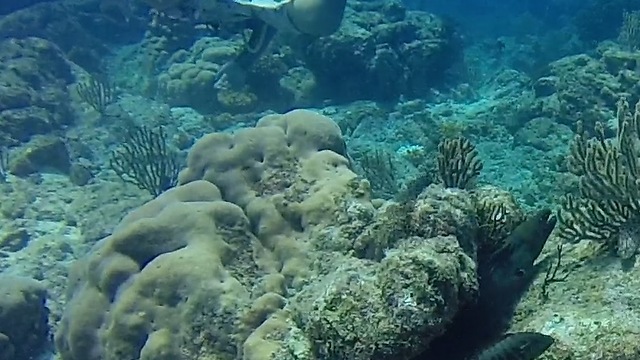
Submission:
<svg viewBox="0 0 640 360">
<path fill-rule="evenodd" d="M 640 246 L 640 101 L 631 111 L 621 99 L 617 123 L 613 139 L 601 122 L 594 138 L 578 123 L 567 165 L 580 179 L 579 195 L 563 199 L 558 228 L 565 240 L 595 240 L 629 259 Z"/>
</svg>

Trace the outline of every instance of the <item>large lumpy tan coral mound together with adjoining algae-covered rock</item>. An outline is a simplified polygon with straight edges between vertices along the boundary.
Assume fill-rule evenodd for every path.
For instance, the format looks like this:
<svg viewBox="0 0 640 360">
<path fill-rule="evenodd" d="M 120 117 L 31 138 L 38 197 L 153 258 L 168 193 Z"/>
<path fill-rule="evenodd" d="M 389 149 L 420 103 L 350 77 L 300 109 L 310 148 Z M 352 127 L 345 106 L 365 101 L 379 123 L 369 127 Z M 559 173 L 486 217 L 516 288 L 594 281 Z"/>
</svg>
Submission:
<svg viewBox="0 0 640 360">
<path fill-rule="evenodd" d="M 442 234 L 384 242 L 382 259 L 354 256 L 348 239 L 319 244 L 358 232 L 340 224 L 364 232 L 390 214 L 367 195 L 324 116 L 297 110 L 205 136 L 179 186 L 128 214 L 78 262 L 55 338 L 62 358 L 413 352 L 471 298 L 473 262 Z"/>
</svg>

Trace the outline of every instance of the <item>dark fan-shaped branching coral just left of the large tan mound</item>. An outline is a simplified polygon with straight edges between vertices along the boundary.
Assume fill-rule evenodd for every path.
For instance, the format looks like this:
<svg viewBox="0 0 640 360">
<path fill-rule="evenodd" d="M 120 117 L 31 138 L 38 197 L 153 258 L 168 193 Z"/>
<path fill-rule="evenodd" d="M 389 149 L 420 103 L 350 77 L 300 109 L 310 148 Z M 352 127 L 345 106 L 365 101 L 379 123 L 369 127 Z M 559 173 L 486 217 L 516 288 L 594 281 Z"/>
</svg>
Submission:
<svg viewBox="0 0 640 360">
<path fill-rule="evenodd" d="M 111 155 L 109 166 L 124 182 L 158 196 L 177 183 L 180 163 L 167 144 L 164 128 L 136 126 Z"/>
</svg>

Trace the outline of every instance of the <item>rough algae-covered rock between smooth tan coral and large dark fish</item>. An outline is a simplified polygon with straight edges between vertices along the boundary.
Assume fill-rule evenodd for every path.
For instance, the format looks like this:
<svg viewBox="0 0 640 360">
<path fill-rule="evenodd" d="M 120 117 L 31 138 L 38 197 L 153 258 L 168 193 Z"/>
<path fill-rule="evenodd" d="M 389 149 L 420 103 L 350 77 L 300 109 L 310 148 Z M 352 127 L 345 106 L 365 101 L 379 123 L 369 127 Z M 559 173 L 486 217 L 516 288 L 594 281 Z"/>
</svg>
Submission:
<svg viewBox="0 0 640 360">
<path fill-rule="evenodd" d="M 476 290 L 475 265 L 455 237 L 411 237 L 380 262 L 345 259 L 290 308 L 314 344 L 309 359 L 402 359 L 442 333 Z M 293 359 L 284 353 L 274 358 Z"/>
</svg>

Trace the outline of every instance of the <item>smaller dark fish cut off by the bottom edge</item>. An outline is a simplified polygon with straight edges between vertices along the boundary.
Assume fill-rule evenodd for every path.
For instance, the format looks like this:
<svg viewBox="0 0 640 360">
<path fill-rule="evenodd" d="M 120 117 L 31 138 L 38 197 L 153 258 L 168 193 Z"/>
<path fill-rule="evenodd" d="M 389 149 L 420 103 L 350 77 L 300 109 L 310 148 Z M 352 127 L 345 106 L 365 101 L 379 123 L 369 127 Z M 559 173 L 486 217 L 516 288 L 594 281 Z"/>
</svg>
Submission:
<svg viewBox="0 0 640 360">
<path fill-rule="evenodd" d="M 537 332 L 506 334 L 502 340 L 474 356 L 472 360 L 534 360 L 553 342 L 551 336 Z"/>
</svg>

